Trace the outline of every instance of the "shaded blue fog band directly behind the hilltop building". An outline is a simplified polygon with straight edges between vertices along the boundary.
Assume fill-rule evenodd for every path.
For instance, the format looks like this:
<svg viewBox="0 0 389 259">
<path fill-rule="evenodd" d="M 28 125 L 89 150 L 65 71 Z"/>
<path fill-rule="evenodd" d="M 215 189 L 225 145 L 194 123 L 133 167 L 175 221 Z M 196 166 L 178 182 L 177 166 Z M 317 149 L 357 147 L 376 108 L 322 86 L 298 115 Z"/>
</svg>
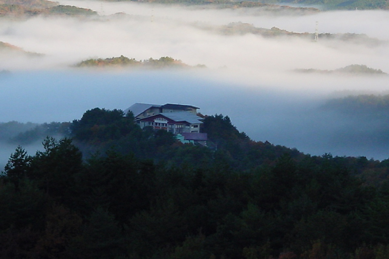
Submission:
<svg viewBox="0 0 389 259">
<path fill-rule="evenodd" d="M 354 143 L 352 135 L 359 130 L 354 122 L 319 109 L 332 90 L 347 85 L 347 78 L 325 79 L 307 82 L 320 89 L 308 91 L 298 86 L 282 89 L 277 82 L 265 80 L 256 87 L 245 86 L 207 78 L 203 72 L 18 72 L 0 81 L 5 93 L 0 96 L 4 111 L 0 121 L 72 121 L 95 107 L 124 110 L 136 102 L 181 103 L 200 107 L 202 114 L 228 115 L 256 141 L 268 140 L 314 155 L 389 157 L 374 141 Z M 341 84 L 335 85 L 337 81 Z M 387 85 L 384 78 L 360 77 L 358 82 L 349 78 L 350 89 L 363 89 L 368 82 L 381 89 Z M 333 88 L 323 90 L 332 84 Z M 349 140 L 345 136 L 339 142 L 339 136 L 350 129 Z"/>
</svg>

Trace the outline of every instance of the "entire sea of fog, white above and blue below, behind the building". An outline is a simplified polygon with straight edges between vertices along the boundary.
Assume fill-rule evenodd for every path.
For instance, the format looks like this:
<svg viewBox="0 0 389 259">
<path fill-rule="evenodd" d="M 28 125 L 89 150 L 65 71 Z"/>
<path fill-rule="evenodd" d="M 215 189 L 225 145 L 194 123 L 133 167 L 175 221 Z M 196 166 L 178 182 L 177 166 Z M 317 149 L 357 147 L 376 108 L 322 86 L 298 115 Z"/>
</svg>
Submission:
<svg viewBox="0 0 389 259">
<path fill-rule="evenodd" d="M 335 143 L 348 124 L 317 111 L 335 93 L 385 93 L 389 78 L 307 75 L 296 68 L 333 70 L 364 64 L 389 73 L 388 11 L 331 11 L 274 15 L 260 9 L 205 9 L 134 2 L 60 0 L 90 8 L 99 17 L 1 19 L 1 41 L 40 53 L 1 53 L 0 122 L 80 119 L 91 108 L 126 109 L 133 103 L 181 103 L 202 114 L 228 115 L 253 140 L 321 155 L 385 159 L 385 149 Z M 122 14 L 117 14 L 122 13 Z M 114 15 L 116 14 L 116 15 Z M 382 41 L 363 43 L 266 39 L 221 35 L 205 26 L 249 23 L 291 32 L 362 33 Z M 124 55 L 143 60 L 170 56 L 191 70 L 84 70 L 88 58 Z M 334 137 L 335 136 L 335 137 Z M 389 153 L 389 152 L 388 152 Z"/>
</svg>

